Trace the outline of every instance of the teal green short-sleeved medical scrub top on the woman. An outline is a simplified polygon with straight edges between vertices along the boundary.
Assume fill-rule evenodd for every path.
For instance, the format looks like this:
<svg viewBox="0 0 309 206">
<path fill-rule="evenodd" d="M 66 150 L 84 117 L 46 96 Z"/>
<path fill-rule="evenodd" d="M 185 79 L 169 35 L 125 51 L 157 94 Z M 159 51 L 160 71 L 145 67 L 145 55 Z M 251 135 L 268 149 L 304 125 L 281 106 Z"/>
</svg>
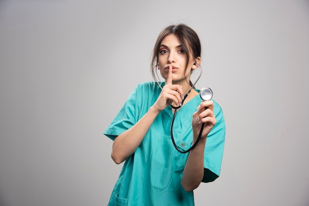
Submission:
<svg viewBox="0 0 309 206">
<path fill-rule="evenodd" d="M 160 85 L 163 87 L 164 82 Z M 155 103 L 160 92 L 156 82 L 139 84 L 104 134 L 114 140 L 131 128 Z M 191 147 L 192 115 L 201 101 L 197 95 L 177 111 L 173 135 L 179 148 L 187 150 Z M 203 182 L 214 181 L 219 176 L 224 149 L 224 116 L 220 105 L 213 102 L 217 123 L 207 136 Z M 193 192 L 185 191 L 181 185 L 189 153 L 178 152 L 172 143 L 172 117 L 172 108 L 167 107 L 155 118 L 141 144 L 124 162 L 109 206 L 194 205 Z"/>
</svg>

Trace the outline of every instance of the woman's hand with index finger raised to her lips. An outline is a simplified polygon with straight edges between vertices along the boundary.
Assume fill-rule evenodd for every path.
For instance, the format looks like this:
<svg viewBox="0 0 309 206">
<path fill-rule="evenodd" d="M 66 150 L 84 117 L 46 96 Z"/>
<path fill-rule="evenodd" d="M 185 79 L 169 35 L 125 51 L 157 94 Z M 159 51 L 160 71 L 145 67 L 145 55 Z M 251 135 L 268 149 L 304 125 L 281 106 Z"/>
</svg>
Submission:
<svg viewBox="0 0 309 206">
<path fill-rule="evenodd" d="M 172 66 L 169 66 L 165 86 L 162 88 L 158 99 L 153 105 L 158 112 L 162 111 L 173 102 L 176 104 L 176 106 L 179 106 L 182 102 L 184 97 L 182 86 L 179 84 L 173 84 L 172 81 Z"/>
</svg>

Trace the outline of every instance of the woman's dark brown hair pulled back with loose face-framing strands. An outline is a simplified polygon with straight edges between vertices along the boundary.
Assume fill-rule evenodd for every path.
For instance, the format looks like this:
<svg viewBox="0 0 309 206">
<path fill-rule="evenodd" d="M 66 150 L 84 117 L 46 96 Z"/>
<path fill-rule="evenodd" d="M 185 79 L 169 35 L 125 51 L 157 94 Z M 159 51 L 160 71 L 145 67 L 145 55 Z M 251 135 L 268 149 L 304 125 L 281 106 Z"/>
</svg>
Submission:
<svg viewBox="0 0 309 206">
<path fill-rule="evenodd" d="M 201 45 L 198 38 L 198 35 L 185 24 L 177 24 L 177 25 L 170 25 L 162 30 L 162 32 L 158 35 L 156 42 L 154 44 L 154 50 L 153 50 L 153 58 L 151 61 L 151 72 L 154 80 L 157 80 L 155 77 L 154 68 L 157 66 L 157 60 L 159 55 L 159 47 L 161 45 L 161 42 L 163 38 L 169 34 L 174 34 L 179 38 L 179 41 L 181 42 L 184 52 L 187 56 L 187 65 L 189 64 L 190 59 L 190 53 L 189 51 L 192 51 L 193 58 L 200 57 L 201 56 Z M 189 47 L 189 48 L 188 48 Z M 190 81 L 190 85 L 192 86 L 192 82 Z"/>
</svg>

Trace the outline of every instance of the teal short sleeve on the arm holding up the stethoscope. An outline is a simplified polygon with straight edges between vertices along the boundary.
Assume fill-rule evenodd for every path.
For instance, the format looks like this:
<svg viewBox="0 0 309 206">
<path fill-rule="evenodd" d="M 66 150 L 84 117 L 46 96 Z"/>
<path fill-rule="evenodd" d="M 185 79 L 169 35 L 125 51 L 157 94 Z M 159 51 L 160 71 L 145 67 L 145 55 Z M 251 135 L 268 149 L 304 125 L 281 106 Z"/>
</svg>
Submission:
<svg viewBox="0 0 309 206">
<path fill-rule="evenodd" d="M 225 119 L 220 105 L 214 102 L 216 125 L 207 136 L 204 153 L 204 176 L 202 182 L 214 181 L 220 175 L 225 142 Z"/>
</svg>

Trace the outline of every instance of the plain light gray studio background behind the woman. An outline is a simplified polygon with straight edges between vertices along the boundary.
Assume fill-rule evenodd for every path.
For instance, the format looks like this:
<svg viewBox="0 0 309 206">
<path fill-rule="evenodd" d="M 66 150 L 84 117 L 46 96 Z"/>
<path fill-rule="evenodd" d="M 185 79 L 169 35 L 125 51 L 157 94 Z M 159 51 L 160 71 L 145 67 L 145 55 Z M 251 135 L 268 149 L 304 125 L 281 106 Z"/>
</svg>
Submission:
<svg viewBox="0 0 309 206">
<path fill-rule="evenodd" d="M 179 22 L 227 124 L 196 205 L 309 206 L 308 0 L 0 1 L 1 206 L 107 205 L 122 165 L 103 131 Z"/>
</svg>

